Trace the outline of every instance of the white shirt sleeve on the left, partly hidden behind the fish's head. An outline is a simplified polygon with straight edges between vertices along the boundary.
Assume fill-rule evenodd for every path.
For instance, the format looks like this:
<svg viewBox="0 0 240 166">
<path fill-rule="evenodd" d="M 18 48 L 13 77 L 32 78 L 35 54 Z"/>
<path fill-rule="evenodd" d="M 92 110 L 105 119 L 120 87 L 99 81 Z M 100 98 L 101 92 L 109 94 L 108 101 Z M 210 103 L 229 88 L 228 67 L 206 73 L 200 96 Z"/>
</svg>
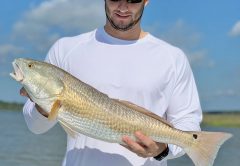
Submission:
<svg viewBox="0 0 240 166">
<path fill-rule="evenodd" d="M 54 65 L 59 65 L 60 61 L 57 59 L 59 52 L 58 43 L 59 42 L 56 42 L 49 50 L 48 55 L 45 59 L 46 62 Z M 35 108 L 35 103 L 31 102 L 30 99 L 28 99 L 24 104 L 23 116 L 29 130 L 35 134 L 45 133 L 57 123 L 56 120 L 49 121 L 46 117 L 40 114 Z"/>
</svg>

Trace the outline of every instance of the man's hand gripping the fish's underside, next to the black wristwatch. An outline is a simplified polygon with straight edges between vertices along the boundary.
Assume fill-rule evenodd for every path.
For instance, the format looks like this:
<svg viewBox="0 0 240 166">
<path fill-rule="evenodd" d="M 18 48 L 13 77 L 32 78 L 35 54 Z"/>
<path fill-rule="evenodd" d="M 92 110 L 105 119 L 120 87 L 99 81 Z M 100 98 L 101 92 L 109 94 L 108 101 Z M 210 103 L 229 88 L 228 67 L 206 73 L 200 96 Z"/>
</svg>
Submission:
<svg viewBox="0 0 240 166">
<path fill-rule="evenodd" d="M 140 131 L 135 133 L 135 137 L 137 141 L 133 141 L 128 136 L 124 136 L 122 140 L 126 143 L 126 145 L 124 145 L 125 148 L 136 153 L 140 157 L 155 157 L 167 148 L 167 144 L 155 142 Z"/>
</svg>

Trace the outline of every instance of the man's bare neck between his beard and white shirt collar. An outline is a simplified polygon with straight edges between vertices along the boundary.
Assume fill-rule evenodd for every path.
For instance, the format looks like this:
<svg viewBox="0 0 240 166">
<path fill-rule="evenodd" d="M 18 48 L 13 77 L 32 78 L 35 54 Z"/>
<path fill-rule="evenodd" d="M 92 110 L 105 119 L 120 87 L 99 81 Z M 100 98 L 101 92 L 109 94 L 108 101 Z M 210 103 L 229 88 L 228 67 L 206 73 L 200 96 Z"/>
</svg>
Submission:
<svg viewBox="0 0 240 166">
<path fill-rule="evenodd" d="M 144 32 L 140 26 L 135 26 L 127 31 L 120 31 L 114 29 L 111 25 L 106 24 L 104 29 L 109 35 L 122 40 L 138 40 L 147 35 L 147 32 Z"/>
</svg>

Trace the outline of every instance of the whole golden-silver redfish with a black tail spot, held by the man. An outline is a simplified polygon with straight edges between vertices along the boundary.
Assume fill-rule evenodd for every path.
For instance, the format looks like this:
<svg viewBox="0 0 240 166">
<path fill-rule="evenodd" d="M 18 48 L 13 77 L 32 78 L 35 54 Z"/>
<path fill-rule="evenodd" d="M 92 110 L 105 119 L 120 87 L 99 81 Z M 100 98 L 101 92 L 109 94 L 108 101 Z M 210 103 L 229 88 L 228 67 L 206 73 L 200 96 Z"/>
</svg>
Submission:
<svg viewBox="0 0 240 166">
<path fill-rule="evenodd" d="M 127 101 L 109 98 L 94 87 L 49 63 L 15 59 L 10 75 L 30 98 L 72 136 L 123 144 L 141 131 L 156 142 L 183 148 L 196 166 L 211 166 L 220 146 L 232 135 L 223 132 L 181 131 L 163 118 Z"/>
</svg>

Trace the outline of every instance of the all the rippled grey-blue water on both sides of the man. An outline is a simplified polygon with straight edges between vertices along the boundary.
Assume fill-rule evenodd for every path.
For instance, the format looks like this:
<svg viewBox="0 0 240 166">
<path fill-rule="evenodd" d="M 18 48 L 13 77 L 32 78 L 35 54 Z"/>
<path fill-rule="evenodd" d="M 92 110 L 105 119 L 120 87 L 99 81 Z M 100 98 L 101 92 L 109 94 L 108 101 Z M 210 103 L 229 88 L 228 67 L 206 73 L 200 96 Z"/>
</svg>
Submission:
<svg viewBox="0 0 240 166">
<path fill-rule="evenodd" d="M 214 166 L 239 166 L 240 129 L 204 128 L 234 134 L 218 153 Z M 56 125 L 46 134 L 32 134 L 21 112 L 0 110 L 0 166 L 60 166 L 66 147 L 66 134 Z M 192 166 L 185 155 L 170 160 L 169 166 Z"/>
</svg>

